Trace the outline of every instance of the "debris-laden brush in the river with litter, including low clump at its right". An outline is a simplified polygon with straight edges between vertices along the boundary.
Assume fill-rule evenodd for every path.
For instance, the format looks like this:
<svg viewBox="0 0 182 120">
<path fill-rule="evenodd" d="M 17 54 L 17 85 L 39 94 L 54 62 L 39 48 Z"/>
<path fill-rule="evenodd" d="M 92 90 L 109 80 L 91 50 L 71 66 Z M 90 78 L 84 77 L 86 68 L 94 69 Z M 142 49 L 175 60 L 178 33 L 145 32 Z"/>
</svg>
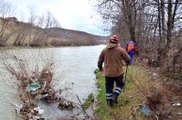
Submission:
<svg viewBox="0 0 182 120">
<path fill-rule="evenodd" d="M 50 61 L 45 66 L 39 67 L 36 64 L 35 69 L 29 69 L 28 61 L 18 57 L 12 57 L 14 65 L 5 63 L 5 68 L 16 82 L 18 97 L 22 104 L 15 105 L 15 111 L 23 120 L 44 120 L 42 117 L 44 109 L 41 109 L 37 103 L 44 100 L 47 103 L 58 103 L 59 108 L 72 109 L 73 103 L 62 100 L 53 89 L 51 84 L 53 80 L 53 63 Z M 32 66 L 31 66 L 32 67 Z M 20 69 L 17 69 L 20 68 Z M 41 68 L 41 69 L 39 69 Z M 72 83 L 73 84 L 73 83 Z"/>
</svg>

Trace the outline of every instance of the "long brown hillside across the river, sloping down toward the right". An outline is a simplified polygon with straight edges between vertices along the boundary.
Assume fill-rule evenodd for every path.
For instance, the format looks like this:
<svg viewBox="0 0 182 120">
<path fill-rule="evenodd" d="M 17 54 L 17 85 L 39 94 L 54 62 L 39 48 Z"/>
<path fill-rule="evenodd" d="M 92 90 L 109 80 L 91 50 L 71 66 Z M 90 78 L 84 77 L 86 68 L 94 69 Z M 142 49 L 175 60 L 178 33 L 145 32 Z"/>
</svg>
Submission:
<svg viewBox="0 0 182 120">
<path fill-rule="evenodd" d="M 41 28 L 17 19 L 0 19 L 0 47 L 98 45 L 106 37 L 59 27 Z"/>
</svg>

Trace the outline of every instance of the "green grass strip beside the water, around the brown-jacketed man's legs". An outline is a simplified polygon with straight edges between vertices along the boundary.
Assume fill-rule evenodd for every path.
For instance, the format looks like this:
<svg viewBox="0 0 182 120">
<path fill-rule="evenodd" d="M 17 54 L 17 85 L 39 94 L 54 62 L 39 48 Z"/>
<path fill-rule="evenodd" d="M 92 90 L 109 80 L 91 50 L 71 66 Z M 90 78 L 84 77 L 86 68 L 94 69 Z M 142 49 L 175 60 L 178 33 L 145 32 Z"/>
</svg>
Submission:
<svg viewBox="0 0 182 120">
<path fill-rule="evenodd" d="M 125 69 L 125 68 L 124 68 Z M 112 108 L 108 107 L 105 100 L 105 80 L 101 72 L 96 74 L 98 79 L 97 85 L 99 88 L 98 104 L 96 113 L 98 114 L 99 120 L 128 120 L 131 116 L 131 107 L 141 103 L 141 96 L 132 84 L 134 76 L 138 73 L 138 67 L 129 67 L 128 75 L 126 79 L 125 92 L 122 92 L 118 98 L 118 104 L 115 104 Z M 135 73 L 133 75 L 132 73 Z M 147 80 L 147 77 L 142 74 L 141 77 Z M 139 116 L 142 120 L 142 117 Z"/>
</svg>

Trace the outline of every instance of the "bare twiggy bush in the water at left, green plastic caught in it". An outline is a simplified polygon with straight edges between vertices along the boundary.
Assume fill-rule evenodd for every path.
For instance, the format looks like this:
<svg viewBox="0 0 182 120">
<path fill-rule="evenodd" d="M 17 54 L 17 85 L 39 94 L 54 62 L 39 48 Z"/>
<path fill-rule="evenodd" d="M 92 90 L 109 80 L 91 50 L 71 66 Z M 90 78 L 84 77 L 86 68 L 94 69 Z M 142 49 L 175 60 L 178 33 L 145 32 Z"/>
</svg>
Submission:
<svg viewBox="0 0 182 120">
<path fill-rule="evenodd" d="M 34 57 L 35 60 L 40 59 L 37 56 Z M 34 117 L 42 119 L 42 113 L 39 114 L 37 109 L 37 101 L 42 97 L 41 95 L 45 94 L 52 96 L 52 99 L 56 97 L 55 91 L 51 86 L 53 63 L 49 61 L 40 65 L 38 63 L 30 63 L 31 59 L 29 59 L 28 63 L 24 57 L 7 53 L 2 53 L 2 59 L 5 69 L 13 78 L 12 81 L 15 83 L 13 85 L 17 86 L 17 97 L 22 103 L 16 106 L 16 112 L 20 113 L 23 120 L 29 120 Z"/>
</svg>

